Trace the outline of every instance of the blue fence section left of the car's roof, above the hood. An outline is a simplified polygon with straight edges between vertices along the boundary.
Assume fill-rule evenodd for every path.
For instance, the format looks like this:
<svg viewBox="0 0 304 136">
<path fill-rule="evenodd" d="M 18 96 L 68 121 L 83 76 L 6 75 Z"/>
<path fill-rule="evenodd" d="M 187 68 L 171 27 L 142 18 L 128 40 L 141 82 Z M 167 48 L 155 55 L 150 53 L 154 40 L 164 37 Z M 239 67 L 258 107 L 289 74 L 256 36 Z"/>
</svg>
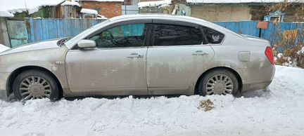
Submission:
<svg viewBox="0 0 304 136">
<path fill-rule="evenodd" d="M 80 32 L 103 22 L 99 19 L 55 19 L 55 18 L 26 18 L 27 40 L 29 42 L 44 41 L 60 37 L 76 36 Z"/>
</svg>

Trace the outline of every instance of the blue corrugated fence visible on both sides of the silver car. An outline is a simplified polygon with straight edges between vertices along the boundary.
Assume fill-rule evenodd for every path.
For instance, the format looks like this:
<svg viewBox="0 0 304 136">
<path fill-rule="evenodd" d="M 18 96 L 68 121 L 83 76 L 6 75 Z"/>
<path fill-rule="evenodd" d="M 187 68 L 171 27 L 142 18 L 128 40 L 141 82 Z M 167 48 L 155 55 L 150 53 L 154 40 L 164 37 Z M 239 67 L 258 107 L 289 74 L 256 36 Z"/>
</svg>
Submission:
<svg viewBox="0 0 304 136">
<path fill-rule="evenodd" d="M 55 39 L 59 37 L 75 36 L 84 29 L 103 22 L 104 20 L 96 19 L 33 19 L 27 18 L 25 22 L 27 23 L 27 35 L 28 42 L 43 41 L 46 39 Z M 217 25 L 225 27 L 232 30 L 238 34 L 248 34 L 251 36 L 259 36 L 261 33 L 261 38 L 267 39 L 272 43 L 279 40 L 279 36 L 276 35 L 277 29 L 280 32 L 284 30 L 291 29 L 304 29 L 303 22 L 281 22 L 279 25 L 274 25 L 270 22 L 268 29 L 260 30 L 256 26 L 258 21 L 240 21 L 240 22 L 214 22 Z M 261 31 L 261 32 L 260 32 Z"/>
</svg>

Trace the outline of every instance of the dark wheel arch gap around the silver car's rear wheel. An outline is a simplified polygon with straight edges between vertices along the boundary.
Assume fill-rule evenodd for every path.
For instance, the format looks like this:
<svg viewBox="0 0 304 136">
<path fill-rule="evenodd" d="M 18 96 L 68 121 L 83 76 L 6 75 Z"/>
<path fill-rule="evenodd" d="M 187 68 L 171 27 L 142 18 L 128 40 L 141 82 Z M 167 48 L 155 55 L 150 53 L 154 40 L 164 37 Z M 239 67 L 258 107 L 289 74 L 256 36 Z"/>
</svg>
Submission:
<svg viewBox="0 0 304 136">
<path fill-rule="evenodd" d="M 201 82 L 201 80 L 203 79 L 203 76 L 205 76 L 205 74 L 208 74 L 208 72 L 211 72 L 211 71 L 216 70 L 216 69 L 227 69 L 230 72 L 232 72 L 232 74 L 234 74 L 236 76 L 236 79 L 239 82 L 239 90 L 241 90 L 243 88 L 243 81 L 241 79 L 241 76 L 234 69 L 232 69 L 230 67 L 213 67 L 213 68 L 210 68 L 210 69 L 206 70 L 205 72 L 203 72 L 203 74 L 201 74 L 201 76 L 198 77 L 198 80 L 196 80 L 196 85 L 195 85 L 195 88 L 194 88 L 194 94 L 196 94 L 196 95 L 198 94 L 198 86 L 199 86 L 199 83 Z"/>
</svg>

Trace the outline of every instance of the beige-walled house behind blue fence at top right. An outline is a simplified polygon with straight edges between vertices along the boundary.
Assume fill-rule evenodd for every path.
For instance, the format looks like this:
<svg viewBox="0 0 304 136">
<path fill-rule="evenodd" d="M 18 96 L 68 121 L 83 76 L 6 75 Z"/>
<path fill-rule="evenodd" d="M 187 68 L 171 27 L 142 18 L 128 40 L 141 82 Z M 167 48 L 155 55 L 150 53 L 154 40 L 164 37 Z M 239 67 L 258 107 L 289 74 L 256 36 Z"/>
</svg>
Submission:
<svg viewBox="0 0 304 136">
<path fill-rule="evenodd" d="M 281 22 L 304 21 L 304 18 L 296 18 L 294 15 L 296 8 L 303 7 L 303 2 L 289 1 L 289 6 L 286 6 L 284 12 L 277 11 L 277 15 L 270 15 L 273 18 L 268 20 L 279 18 Z M 192 17 L 209 21 L 264 20 L 265 15 L 274 14 L 268 13 L 269 9 L 266 7 L 279 3 L 284 3 L 284 0 L 186 0 L 187 6 L 191 7 Z M 304 17 L 304 13 L 300 13 L 300 16 Z"/>
</svg>

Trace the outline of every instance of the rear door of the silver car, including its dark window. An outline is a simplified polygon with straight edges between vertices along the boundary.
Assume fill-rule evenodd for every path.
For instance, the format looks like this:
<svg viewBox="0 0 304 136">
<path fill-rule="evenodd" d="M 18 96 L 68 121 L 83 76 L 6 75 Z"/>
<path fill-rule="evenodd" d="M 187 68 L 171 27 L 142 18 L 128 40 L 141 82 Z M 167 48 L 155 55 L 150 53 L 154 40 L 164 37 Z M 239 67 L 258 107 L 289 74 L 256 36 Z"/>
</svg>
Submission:
<svg viewBox="0 0 304 136">
<path fill-rule="evenodd" d="M 214 51 L 198 25 L 153 20 L 147 53 L 149 93 L 183 91 L 208 67 Z"/>
</svg>

